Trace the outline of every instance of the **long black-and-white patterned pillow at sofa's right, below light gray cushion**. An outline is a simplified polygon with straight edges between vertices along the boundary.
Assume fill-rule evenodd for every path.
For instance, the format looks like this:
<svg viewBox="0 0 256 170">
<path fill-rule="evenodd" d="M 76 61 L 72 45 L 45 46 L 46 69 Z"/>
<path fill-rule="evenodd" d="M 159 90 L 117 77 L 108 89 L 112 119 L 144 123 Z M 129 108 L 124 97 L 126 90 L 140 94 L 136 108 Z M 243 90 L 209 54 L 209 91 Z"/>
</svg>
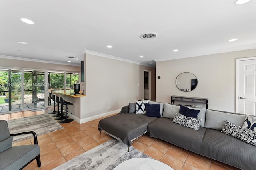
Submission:
<svg viewBox="0 0 256 170">
<path fill-rule="evenodd" d="M 234 125 L 225 120 L 221 132 L 256 146 L 256 131 L 254 130 Z"/>
</svg>

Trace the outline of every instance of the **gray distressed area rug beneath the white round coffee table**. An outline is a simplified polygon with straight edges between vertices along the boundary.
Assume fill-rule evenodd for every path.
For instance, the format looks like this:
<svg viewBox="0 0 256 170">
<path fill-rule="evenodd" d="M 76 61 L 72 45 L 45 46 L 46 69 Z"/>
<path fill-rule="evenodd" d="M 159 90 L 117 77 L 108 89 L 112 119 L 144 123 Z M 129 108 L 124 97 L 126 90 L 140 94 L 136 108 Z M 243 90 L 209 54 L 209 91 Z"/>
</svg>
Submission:
<svg viewBox="0 0 256 170">
<path fill-rule="evenodd" d="M 99 146 L 84 152 L 54 170 L 113 170 L 118 164 L 131 158 L 151 158 L 134 147 L 112 138 Z"/>
</svg>

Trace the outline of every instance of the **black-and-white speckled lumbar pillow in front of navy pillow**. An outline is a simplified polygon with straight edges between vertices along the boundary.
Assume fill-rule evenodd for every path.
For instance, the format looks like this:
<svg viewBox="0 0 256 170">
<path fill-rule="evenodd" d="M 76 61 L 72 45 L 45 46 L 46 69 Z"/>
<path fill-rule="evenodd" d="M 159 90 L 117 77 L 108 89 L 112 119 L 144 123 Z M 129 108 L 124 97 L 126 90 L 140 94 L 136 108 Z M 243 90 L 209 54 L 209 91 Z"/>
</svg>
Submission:
<svg viewBox="0 0 256 170">
<path fill-rule="evenodd" d="M 175 116 L 172 121 L 175 123 L 178 123 L 180 125 L 183 125 L 184 127 L 189 127 L 189 128 L 199 131 L 200 123 L 201 123 L 202 119 L 186 117 L 180 113 L 175 113 Z"/>
</svg>

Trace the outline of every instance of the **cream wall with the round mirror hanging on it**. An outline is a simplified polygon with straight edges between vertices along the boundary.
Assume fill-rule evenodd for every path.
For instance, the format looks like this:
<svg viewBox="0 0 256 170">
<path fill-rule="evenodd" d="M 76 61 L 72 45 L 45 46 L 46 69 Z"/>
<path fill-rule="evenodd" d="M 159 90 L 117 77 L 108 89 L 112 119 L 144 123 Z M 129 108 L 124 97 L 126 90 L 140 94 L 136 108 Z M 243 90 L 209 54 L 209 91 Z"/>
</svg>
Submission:
<svg viewBox="0 0 256 170">
<path fill-rule="evenodd" d="M 236 58 L 255 57 L 256 49 L 156 62 L 156 101 L 170 103 L 172 95 L 208 98 L 208 109 L 235 112 Z M 182 92 L 176 77 L 193 73 L 196 89 Z"/>
</svg>

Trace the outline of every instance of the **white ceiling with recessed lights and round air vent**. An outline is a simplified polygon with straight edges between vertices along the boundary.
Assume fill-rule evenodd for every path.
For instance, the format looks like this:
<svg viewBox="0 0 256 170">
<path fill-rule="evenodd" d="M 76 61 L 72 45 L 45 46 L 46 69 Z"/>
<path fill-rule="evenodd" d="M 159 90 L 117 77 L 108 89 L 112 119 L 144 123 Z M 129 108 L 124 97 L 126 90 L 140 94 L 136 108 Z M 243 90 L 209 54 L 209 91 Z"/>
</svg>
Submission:
<svg viewBox="0 0 256 170">
<path fill-rule="evenodd" d="M 254 49 L 256 1 L 234 2 L 1 0 L 0 55 L 80 65 L 84 52 L 100 53 L 154 66 L 154 61 Z M 157 36 L 140 39 L 145 32 Z M 233 38 L 238 40 L 228 42 Z"/>
</svg>

